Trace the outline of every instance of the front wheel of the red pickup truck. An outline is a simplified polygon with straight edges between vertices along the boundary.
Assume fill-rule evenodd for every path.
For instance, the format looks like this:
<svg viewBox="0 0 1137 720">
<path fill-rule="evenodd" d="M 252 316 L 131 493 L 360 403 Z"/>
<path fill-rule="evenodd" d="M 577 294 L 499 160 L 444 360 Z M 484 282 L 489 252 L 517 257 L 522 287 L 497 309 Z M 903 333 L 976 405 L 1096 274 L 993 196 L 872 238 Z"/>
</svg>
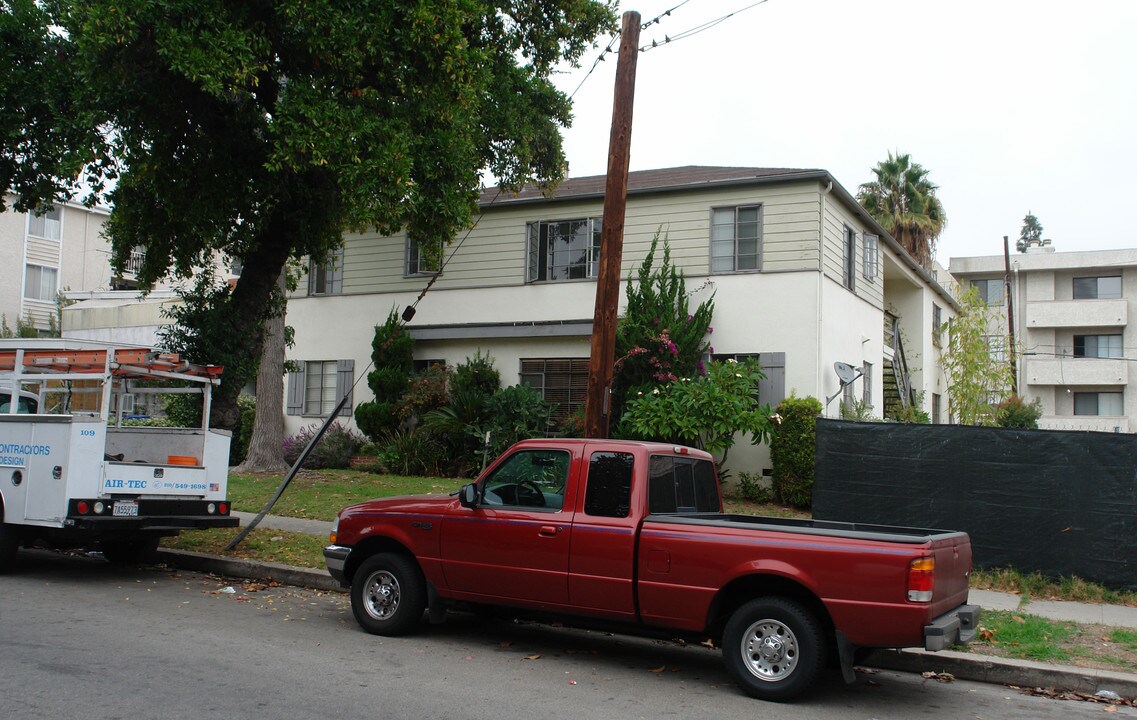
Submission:
<svg viewBox="0 0 1137 720">
<path fill-rule="evenodd" d="M 407 635 L 426 609 L 426 580 L 412 558 L 380 553 L 364 561 L 351 580 L 351 612 L 372 635 Z"/>
</svg>

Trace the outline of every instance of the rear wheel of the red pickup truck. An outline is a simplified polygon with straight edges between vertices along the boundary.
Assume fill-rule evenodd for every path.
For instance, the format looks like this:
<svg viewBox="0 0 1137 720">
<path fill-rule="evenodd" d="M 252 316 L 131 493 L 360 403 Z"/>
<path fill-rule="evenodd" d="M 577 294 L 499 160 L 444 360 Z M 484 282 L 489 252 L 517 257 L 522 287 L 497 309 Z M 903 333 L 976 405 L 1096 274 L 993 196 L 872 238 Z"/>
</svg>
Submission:
<svg viewBox="0 0 1137 720">
<path fill-rule="evenodd" d="M 740 606 L 723 630 L 727 669 L 747 695 L 792 700 L 824 667 L 821 623 L 805 606 L 785 597 L 764 597 Z"/>
</svg>

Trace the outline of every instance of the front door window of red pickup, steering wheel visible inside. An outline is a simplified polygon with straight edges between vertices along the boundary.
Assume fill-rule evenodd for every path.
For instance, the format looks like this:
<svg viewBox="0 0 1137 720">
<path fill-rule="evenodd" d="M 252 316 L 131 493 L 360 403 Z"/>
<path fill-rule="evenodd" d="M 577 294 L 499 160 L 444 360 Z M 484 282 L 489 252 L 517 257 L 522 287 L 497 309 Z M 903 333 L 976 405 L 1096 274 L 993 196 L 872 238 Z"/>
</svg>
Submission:
<svg viewBox="0 0 1137 720">
<path fill-rule="evenodd" d="M 493 471 L 482 486 L 482 504 L 561 510 L 568 481 L 565 450 L 520 450 Z"/>
</svg>

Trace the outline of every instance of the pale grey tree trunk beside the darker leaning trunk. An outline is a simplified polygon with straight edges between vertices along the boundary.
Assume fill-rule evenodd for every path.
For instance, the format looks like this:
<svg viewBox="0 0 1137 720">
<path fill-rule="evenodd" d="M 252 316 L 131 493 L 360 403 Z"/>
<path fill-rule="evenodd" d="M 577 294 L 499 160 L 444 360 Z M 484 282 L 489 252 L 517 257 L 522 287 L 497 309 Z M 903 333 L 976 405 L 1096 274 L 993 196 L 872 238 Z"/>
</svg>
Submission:
<svg viewBox="0 0 1137 720">
<path fill-rule="evenodd" d="M 276 288 L 287 292 L 287 270 L 281 271 Z M 288 470 L 282 455 L 284 444 L 284 309 L 265 323 L 265 347 L 257 370 L 257 414 L 244 462 L 238 472 L 280 472 Z"/>
</svg>

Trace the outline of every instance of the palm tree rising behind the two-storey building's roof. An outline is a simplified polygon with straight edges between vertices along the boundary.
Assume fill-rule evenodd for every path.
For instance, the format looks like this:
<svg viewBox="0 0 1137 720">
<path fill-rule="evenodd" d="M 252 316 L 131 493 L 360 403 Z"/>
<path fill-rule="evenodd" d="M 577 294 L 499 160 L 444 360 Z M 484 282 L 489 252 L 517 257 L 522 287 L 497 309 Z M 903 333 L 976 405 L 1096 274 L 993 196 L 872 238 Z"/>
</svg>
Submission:
<svg viewBox="0 0 1137 720">
<path fill-rule="evenodd" d="M 939 188 L 907 154 L 894 156 L 889 151 L 872 174 L 877 180 L 861 185 L 857 201 L 908 255 L 930 267 L 936 240 L 947 225 L 944 206 L 936 197 Z"/>
</svg>

